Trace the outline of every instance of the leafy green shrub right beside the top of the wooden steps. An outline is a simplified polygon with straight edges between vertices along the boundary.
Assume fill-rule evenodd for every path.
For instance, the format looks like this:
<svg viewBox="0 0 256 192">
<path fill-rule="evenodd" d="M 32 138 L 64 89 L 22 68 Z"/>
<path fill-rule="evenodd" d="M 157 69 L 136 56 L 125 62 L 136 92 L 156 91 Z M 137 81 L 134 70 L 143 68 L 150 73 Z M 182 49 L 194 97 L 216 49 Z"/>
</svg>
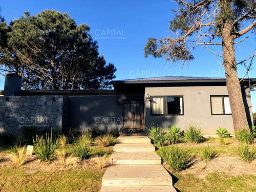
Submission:
<svg viewBox="0 0 256 192">
<path fill-rule="evenodd" d="M 157 147 L 162 147 L 166 141 L 166 134 L 159 130 L 159 127 L 155 127 L 154 125 L 151 126 L 151 129 L 148 130 L 150 133 L 148 133 L 148 135 L 150 135 L 153 143 L 157 146 Z"/>
</svg>

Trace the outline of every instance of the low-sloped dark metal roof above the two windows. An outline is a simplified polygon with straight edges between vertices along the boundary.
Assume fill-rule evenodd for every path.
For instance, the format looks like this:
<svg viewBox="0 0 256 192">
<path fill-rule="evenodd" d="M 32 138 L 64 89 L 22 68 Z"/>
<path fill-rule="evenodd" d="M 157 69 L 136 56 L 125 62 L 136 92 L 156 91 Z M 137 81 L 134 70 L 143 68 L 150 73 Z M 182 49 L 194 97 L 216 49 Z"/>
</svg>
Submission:
<svg viewBox="0 0 256 192">
<path fill-rule="evenodd" d="M 248 79 L 244 79 L 248 80 Z M 255 78 L 250 79 L 252 81 L 256 81 Z M 151 78 L 138 78 L 138 79 L 125 79 L 125 80 L 115 80 L 112 83 L 132 83 L 132 82 L 226 82 L 226 78 L 218 78 L 218 77 L 187 77 L 187 76 L 166 76 L 166 77 L 151 77 Z"/>
</svg>

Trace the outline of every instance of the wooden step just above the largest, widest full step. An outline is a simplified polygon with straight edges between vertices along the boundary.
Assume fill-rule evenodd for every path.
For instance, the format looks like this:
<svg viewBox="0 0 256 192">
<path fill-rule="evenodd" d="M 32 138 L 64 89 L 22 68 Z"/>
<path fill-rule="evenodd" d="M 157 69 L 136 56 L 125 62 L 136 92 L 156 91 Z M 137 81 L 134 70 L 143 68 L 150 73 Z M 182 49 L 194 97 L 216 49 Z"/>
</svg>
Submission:
<svg viewBox="0 0 256 192">
<path fill-rule="evenodd" d="M 161 157 L 156 152 L 114 152 L 109 160 L 116 165 L 161 164 Z"/>
</svg>

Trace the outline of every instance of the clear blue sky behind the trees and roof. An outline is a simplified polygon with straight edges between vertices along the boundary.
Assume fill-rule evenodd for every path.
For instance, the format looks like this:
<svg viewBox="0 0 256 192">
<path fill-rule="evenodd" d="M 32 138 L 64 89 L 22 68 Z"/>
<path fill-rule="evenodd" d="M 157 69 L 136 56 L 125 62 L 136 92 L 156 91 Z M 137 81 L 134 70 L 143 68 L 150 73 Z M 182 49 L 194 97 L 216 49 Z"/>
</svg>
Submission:
<svg viewBox="0 0 256 192">
<path fill-rule="evenodd" d="M 0 7 L 8 23 L 19 18 L 24 11 L 37 14 L 46 9 L 54 9 L 67 12 L 78 25 L 88 24 L 93 38 L 98 41 L 99 53 L 117 68 L 116 80 L 170 75 L 225 77 L 224 69 L 218 63 L 222 59 L 205 48 L 197 47 L 193 51 L 195 59 L 183 70 L 179 65 L 165 63 L 164 59 L 144 57 L 143 48 L 148 37 L 161 38 L 170 34 L 168 25 L 173 17 L 171 9 L 176 8 L 172 1 L 13 0 L 1 1 Z M 246 36 L 249 38 L 237 45 L 237 61 L 245 59 L 255 50 L 255 35 L 249 33 Z M 238 67 L 239 77 L 243 77 L 245 72 L 243 66 Z M 256 78 L 256 70 L 252 69 L 249 75 L 250 78 Z M 3 90 L 4 78 L 0 79 L 0 90 Z M 251 97 L 252 111 L 256 112 L 256 93 L 251 92 Z"/>
</svg>

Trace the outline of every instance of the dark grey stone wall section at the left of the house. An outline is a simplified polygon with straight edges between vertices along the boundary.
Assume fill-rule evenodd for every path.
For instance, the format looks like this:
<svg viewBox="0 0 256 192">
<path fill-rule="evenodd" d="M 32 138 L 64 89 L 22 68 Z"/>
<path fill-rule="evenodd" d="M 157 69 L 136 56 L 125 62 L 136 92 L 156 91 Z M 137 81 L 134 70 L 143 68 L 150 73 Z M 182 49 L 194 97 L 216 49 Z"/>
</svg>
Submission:
<svg viewBox="0 0 256 192">
<path fill-rule="evenodd" d="M 18 135 L 24 126 L 62 130 L 68 119 L 67 105 L 68 98 L 62 95 L 0 97 L 0 131 Z"/>
</svg>

